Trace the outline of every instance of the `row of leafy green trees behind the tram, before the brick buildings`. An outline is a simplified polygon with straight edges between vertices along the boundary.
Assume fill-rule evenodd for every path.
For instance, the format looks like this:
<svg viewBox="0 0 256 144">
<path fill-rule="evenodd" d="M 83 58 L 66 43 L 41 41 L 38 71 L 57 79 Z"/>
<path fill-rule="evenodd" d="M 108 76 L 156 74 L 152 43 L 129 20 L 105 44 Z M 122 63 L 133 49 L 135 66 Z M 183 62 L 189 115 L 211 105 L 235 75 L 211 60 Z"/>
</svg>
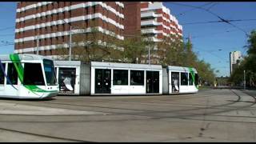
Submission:
<svg viewBox="0 0 256 144">
<path fill-rule="evenodd" d="M 184 43 L 174 35 L 164 37 L 162 42 L 154 42 L 152 36 L 143 34 L 119 40 L 114 34 L 102 34 L 97 29 L 92 29 L 89 33 L 73 34 L 72 42 L 72 60 L 136 63 L 138 58 L 138 63 L 145 63 L 150 50 L 150 56 L 159 56 L 158 64 L 194 67 L 198 70 L 201 82 L 214 82 L 214 70 L 210 68 L 210 64 L 198 60 L 190 42 Z M 69 49 L 62 48 L 57 53 L 67 59 L 68 51 Z"/>
</svg>

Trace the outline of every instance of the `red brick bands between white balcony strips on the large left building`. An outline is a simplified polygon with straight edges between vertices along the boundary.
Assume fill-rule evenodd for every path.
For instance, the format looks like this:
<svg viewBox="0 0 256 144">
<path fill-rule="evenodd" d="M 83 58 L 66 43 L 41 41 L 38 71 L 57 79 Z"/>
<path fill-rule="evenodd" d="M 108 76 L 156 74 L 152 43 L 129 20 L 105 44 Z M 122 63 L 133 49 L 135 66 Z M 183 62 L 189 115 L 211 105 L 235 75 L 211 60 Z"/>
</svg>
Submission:
<svg viewBox="0 0 256 144">
<path fill-rule="evenodd" d="M 37 2 L 18 2 L 17 8 L 29 6 L 34 3 L 37 3 Z M 54 10 L 54 9 L 62 8 L 65 6 L 76 5 L 79 3 L 85 3 L 85 2 L 53 2 L 50 4 L 44 5 L 44 6 L 40 6 L 37 8 L 32 8 L 30 10 L 18 12 L 16 14 L 16 18 L 22 18 L 22 17 L 26 17 L 31 14 L 38 14 L 38 13 L 46 12 L 48 10 Z M 114 8 L 120 14 L 123 14 L 123 11 L 124 11 L 123 8 L 118 6 L 115 2 L 106 2 L 106 4 L 107 4 L 107 6 L 111 6 L 112 8 Z M 26 26 L 35 26 L 37 24 L 44 23 L 44 22 L 52 22 L 52 21 L 57 21 L 57 20 L 64 19 L 64 18 L 78 17 L 78 16 L 94 14 L 94 13 L 101 13 L 102 15 L 105 15 L 106 18 L 111 18 L 115 22 L 118 22 L 119 24 L 123 25 L 124 21 L 122 20 L 122 18 L 119 18 L 117 15 L 115 15 L 110 10 L 102 9 L 102 6 L 96 5 L 96 6 L 86 7 L 86 9 L 81 8 L 81 9 L 71 10 L 71 12 L 65 11 L 63 13 L 51 14 L 51 15 L 46 15 L 46 16 L 40 17 L 40 18 L 32 18 L 32 19 L 28 19 L 23 22 L 17 22 L 16 29 L 26 27 Z M 72 22 L 71 25 L 72 26 L 90 27 L 91 20 L 86 20 L 86 21 Z M 100 18 L 96 18 L 94 21 L 97 22 L 96 26 L 101 26 L 103 29 L 110 30 L 110 31 L 114 32 L 115 34 L 118 34 L 121 36 L 123 35 L 123 30 L 117 26 L 114 26 L 110 22 L 103 22 L 102 19 L 100 19 Z M 89 25 L 87 25 L 87 23 Z M 33 37 L 33 36 L 35 37 L 37 34 L 50 34 L 50 33 L 56 33 L 56 32 L 61 32 L 61 31 L 68 31 L 68 30 L 70 30 L 70 26 L 68 24 L 62 24 L 62 25 L 57 25 L 57 26 L 46 26 L 46 27 L 40 28 L 39 30 L 38 29 L 26 30 L 26 31 L 16 33 L 15 39 L 25 38 L 25 37 Z M 61 36 L 61 37 L 55 37 L 55 38 L 40 39 L 39 46 L 57 45 L 57 44 L 62 44 L 63 42 L 64 43 L 69 42 L 68 35 Z M 36 40 L 26 41 L 26 42 L 18 42 L 18 43 L 15 43 L 14 47 L 15 47 L 15 50 L 20 50 L 20 49 L 35 47 L 36 43 L 37 43 Z M 49 52 L 49 51 L 46 50 L 45 52 L 42 52 L 42 54 L 51 54 L 51 52 Z"/>
</svg>

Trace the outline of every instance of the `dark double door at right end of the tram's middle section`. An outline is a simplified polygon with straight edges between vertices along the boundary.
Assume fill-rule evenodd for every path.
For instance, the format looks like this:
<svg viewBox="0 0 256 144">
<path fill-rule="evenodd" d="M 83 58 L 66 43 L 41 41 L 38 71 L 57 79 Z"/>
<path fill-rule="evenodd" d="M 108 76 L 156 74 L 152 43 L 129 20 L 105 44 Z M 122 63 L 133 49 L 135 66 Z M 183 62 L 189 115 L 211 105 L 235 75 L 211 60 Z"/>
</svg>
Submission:
<svg viewBox="0 0 256 144">
<path fill-rule="evenodd" d="M 146 71 L 146 93 L 159 93 L 159 71 Z"/>
</svg>

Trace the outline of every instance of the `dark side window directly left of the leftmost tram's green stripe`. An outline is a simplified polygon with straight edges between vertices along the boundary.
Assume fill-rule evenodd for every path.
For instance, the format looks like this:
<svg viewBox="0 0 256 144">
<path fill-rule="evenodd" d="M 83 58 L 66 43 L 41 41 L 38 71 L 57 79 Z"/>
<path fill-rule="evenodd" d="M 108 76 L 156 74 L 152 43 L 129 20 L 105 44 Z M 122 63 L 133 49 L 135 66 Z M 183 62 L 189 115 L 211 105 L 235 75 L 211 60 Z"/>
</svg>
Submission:
<svg viewBox="0 0 256 144">
<path fill-rule="evenodd" d="M 10 79 L 10 82 L 7 81 L 7 85 L 17 85 L 18 84 L 18 73 L 17 70 L 15 69 L 14 63 L 9 63 L 8 64 L 8 69 L 7 69 L 7 77 Z"/>
</svg>

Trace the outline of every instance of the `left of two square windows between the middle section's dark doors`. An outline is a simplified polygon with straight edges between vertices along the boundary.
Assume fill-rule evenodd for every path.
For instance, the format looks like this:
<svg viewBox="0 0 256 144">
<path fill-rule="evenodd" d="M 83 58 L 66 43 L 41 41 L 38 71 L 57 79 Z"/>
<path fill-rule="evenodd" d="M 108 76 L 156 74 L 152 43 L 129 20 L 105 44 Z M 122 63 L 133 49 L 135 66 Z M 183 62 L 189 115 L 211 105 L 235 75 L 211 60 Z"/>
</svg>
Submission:
<svg viewBox="0 0 256 144">
<path fill-rule="evenodd" d="M 113 85 L 128 85 L 128 70 L 114 70 Z"/>
</svg>

